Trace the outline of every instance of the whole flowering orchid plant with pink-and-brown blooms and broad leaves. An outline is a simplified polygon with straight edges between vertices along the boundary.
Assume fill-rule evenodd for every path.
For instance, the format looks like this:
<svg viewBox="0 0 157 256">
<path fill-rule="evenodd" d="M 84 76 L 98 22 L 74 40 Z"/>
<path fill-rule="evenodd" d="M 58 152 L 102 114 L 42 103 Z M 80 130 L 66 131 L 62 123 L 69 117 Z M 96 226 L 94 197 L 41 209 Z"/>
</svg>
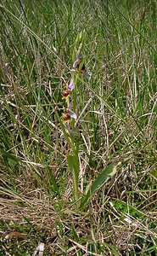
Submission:
<svg viewBox="0 0 157 256">
<path fill-rule="evenodd" d="M 117 164 L 110 164 L 104 169 L 104 172 L 99 174 L 92 184 L 87 185 L 87 189 L 85 189 L 86 192 L 83 195 L 81 194 L 79 189 L 79 133 L 76 130 L 76 89 L 79 79 L 84 77 L 90 79 L 91 76 L 90 73 L 87 73 L 83 58 L 81 56 L 83 41 L 83 32 L 81 32 L 76 38 L 76 45 L 72 55 L 73 69 L 71 70 L 72 73 L 70 83 L 67 83 L 64 86 L 62 92 L 63 99 L 65 101 L 65 108 L 61 117 L 59 117 L 59 114 L 56 113 L 63 131 L 61 137 L 63 137 L 70 146 L 70 154 L 67 154 L 66 158 L 73 177 L 73 196 L 77 210 L 79 207 L 85 207 L 87 205 L 87 201 L 89 201 L 97 189 L 99 189 L 109 179 L 109 177 L 115 174 L 117 166 Z"/>
</svg>

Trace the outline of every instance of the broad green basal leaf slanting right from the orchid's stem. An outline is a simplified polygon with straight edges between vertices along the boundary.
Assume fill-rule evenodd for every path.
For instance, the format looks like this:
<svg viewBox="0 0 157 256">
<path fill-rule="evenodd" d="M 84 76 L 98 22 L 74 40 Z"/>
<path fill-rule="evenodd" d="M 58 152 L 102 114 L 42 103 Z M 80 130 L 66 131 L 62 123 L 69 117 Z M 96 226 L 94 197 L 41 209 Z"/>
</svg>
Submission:
<svg viewBox="0 0 157 256">
<path fill-rule="evenodd" d="M 101 172 L 98 177 L 93 181 L 92 185 L 89 189 L 87 189 L 86 195 L 83 196 L 81 200 L 81 207 L 85 207 L 87 205 L 87 201 L 95 194 L 95 192 L 100 189 L 104 183 L 107 183 L 110 177 L 113 177 L 115 175 L 117 166 L 119 166 L 121 162 L 118 164 L 111 163 L 109 166 L 107 166 L 103 172 Z"/>
</svg>

